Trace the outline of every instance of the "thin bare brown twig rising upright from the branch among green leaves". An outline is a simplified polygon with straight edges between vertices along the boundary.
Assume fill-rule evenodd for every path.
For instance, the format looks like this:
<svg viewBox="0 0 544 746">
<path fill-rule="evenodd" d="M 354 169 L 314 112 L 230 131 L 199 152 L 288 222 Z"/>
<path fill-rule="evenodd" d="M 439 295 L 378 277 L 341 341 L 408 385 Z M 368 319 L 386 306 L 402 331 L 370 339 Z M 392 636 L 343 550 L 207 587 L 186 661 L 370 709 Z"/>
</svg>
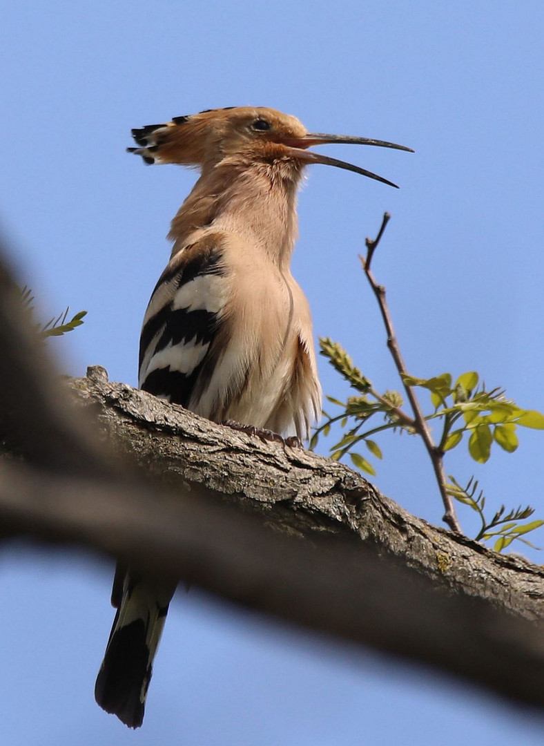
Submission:
<svg viewBox="0 0 544 746">
<path fill-rule="evenodd" d="M 382 220 L 382 227 L 379 229 L 376 238 L 365 239 L 365 244 L 367 245 L 367 257 L 365 258 L 359 255 L 359 259 L 361 260 L 364 274 L 367 276 L 370 287 L 373 289 L 374 295 L 376 295 L 379 310 L 382 313 L 382 319 L 385 324 L 385 329 L 388 333 L 388 349 L 391 356 L 393 357 L 393 360 L 395 361 L 396 369 L 402 379 L 402 385 L 405 388 L 406 395 L 408 396 L 408 400 L 410 401 L 412 410 L 414 412 L 415 427 L 417 429 L 417 432 L 420 433 L 420 436 L 423 438 L 423 442 L 425 443 L 428 455 L 431 458 L 434 475 L 438 483 L 438 489 L 440 490 L 442 502 L 446 509 L 446 513 L 444 513 L 443 515 L 443 521 L 452 530 L 461 533 L 461 525 L 459 524 L 457 515 L 455 514 L 455 508 L 453 507 L 452 498 L 448 494 L 446 489 L 446 471 L 444 471 L 443 452 L 440 451 L 440 448 L 437 448 L 437 446 L 434 445 L 434 441 L 431 436 L 431 430 L 428 427 L 425 416 L 423 416 L 420 403 L 419 401 L 417 401 L 417 397 L 414 394 L 414 389 L 412 389 L 411 386 L 408 386 L 408 384 L 405 383 L 405 375 L 407 374 L 407 370 L 404 360 L 402 360 L 399 344 L 396 340 L 395 331 L 393 329 L 393 322 L 389 313 L 389 307 L 387 301 L 385 300 L 385 287 L 383 285 L 379 285 L 376 282 L 376 278 L 374 278 L 374 275 L 370 270 L 370 263 L 372 262 L 374 251 L 376 251 L 376 248 L 378 247 L 379 241 L 382 238 L 385 227 L 388 225 L 389 219 L 390 214 L 385 213 Z"/>
</svg>

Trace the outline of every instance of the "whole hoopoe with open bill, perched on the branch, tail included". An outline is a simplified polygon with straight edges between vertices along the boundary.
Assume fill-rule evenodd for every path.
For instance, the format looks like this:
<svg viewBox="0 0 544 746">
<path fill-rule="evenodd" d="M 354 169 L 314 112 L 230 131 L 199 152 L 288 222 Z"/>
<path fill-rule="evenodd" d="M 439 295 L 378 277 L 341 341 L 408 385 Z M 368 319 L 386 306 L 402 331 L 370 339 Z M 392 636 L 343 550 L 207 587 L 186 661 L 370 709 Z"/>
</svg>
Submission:
<svg viewBox="0 0 544 746">
<path fill-rule="evenodd" d="M 309 151 L 382 140 L 311 134 L 294 116 L 230 107 L 132 131 L 145 163 L 179 163 L 200 178 L 171 223 L 170 262 L 142 327 L 139 386 L 215 422 L 306 440 L 321 391 L 308 301 L 291 275 L 297 188 L 310 163 L 380 176 Z M 95 697 L 129 727 L 142 724 L 171 583 L 118 568 L 116 618 Z"/>
</svg>

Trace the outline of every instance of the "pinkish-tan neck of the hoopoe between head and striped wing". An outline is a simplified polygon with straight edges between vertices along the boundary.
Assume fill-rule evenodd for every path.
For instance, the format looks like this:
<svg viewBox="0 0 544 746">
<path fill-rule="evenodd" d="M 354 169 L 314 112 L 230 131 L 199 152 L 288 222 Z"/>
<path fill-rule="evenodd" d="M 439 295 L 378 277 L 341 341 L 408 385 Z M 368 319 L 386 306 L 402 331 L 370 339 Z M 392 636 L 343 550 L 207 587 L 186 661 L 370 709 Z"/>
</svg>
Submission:
<svg viewBox="0 0 544 746">
<path fill-rule="evenodd" d="M 212 228 L 250 242 L 278 266 L 288 266 L 297 238 L 297 187 L 302 168 L 225 159 L 206 169 L 171 224 L 172 256 L 193 233 Z"/>
</svg>

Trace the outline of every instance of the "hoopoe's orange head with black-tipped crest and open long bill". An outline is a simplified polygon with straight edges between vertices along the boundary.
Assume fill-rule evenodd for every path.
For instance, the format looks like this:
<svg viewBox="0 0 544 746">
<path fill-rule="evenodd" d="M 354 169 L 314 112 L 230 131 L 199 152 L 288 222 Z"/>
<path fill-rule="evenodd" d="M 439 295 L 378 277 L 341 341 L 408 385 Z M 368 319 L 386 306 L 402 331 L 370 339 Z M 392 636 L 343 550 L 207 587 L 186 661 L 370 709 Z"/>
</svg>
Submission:
<svg viewBox="0 0 544 746">
<path fill-rule="evenodd" d="M 174 117 L 163 125 L 134 129 L 138 148 L 128 151 L 141 155 L 145 163 L 180 163 L 206 169 L 226 159 L 245 163 L 285 161 L 297 166 L 324 163 L 396 186 L 366 169 L 308 150 L 314 145 L 347 143 L 377 145 L 410 151 L 404 145 L 350 135 L 311 133 L 296 117 L 266 107 L 211 109 L 189 116 Z"/>
</svg>

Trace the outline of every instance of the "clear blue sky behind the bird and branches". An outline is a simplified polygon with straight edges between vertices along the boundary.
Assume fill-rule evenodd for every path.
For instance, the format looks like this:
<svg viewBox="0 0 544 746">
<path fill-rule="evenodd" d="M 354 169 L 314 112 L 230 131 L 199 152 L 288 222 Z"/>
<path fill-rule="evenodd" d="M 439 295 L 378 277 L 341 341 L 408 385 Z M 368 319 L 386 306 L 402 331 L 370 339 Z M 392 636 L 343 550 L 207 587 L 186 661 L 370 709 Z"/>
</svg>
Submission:
<svg viewBox="0 0 544 746">
<path fill-rule="evenodd" d="M 265 105 L 313 131 L 417 151 L 323 148 L 398 191 L 325 166 L 309 171 L 294 274 L 316 334 L 342 342 L 379 389 L 399 388 L 357 258 L 389 210 L 374 270 L 410 371 L 477 370 L 544 410 L 543 37 L 544 6 L 531 0 L 4 4 L 2 225 L 43 316 L 66 304 L 89 312 L 51 345 L 60 369 L 101 364 L 136 383 L 164 236 L 194 174 L 145 169 L 124 153 L 130 128 Z M 324 361 L 321 378 L 325 392 L 347 394 Z M 530 503 L 544 518 L 543 434 L 520 440 L 516 454 L 484 467 L 459 451 L 446 468 L 461 481 L 475 473 L 493 507 Z M 388 438 L 382 450 L 376 485 L 438 523 L 420 445 Z M 171 609 L 145 724 L 132 733 L 92 699 L 113 618 L 110 565 L 20 545 L 1 559 L 0 715 L 10 746 L 542 740 L 538 721 L 478 690 L 240 615 L 197 589 Z"/>
</svg>

